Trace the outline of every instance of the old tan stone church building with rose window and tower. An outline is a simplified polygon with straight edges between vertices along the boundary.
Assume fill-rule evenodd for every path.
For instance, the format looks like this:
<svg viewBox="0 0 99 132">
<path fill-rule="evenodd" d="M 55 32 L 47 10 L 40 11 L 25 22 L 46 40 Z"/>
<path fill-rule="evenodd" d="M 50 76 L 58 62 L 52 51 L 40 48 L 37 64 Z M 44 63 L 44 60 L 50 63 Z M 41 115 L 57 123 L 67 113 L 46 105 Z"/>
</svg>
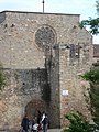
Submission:
<svg viewBox="0 0 99 132">
<path fill-rule="evenodd" d="M 79 75 L 92 64 L 92 36 L 79 28 L 79 14 L 3 11 L 0 13 L 0 63 L 6 86 L 0 92 L 0 128 L 18 129 L 25 113 L 45 111 L 51 128 L 67 124 L 64 114 L 90 117 Z"/>
</svg>

